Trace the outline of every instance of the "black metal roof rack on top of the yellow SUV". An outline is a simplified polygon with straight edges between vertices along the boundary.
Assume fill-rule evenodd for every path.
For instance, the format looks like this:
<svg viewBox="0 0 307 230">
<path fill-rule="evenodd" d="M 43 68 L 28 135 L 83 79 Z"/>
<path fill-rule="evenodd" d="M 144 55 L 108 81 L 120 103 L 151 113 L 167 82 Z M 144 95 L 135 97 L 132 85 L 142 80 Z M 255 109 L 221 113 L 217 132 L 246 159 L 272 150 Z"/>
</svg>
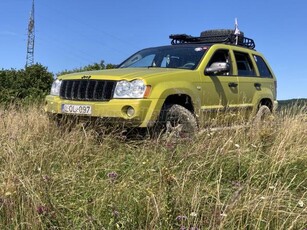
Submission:
<svg viewBox="0 0 307 230">
<path fill-rule="evenodd" d="M 187 34 L 171 34 L 169 36 L 172 39 L 171 44 L 183 44 L 183 43 L 224 43 L 224 44 L 232 44 L 247 47 L 250 49 L 254 49 L 256 44 L 253 39 L 244 37 L 242 35 L 218 35 L 218 36 L 201 36 L 201 37 L 193 37 Z"/>
</svg>

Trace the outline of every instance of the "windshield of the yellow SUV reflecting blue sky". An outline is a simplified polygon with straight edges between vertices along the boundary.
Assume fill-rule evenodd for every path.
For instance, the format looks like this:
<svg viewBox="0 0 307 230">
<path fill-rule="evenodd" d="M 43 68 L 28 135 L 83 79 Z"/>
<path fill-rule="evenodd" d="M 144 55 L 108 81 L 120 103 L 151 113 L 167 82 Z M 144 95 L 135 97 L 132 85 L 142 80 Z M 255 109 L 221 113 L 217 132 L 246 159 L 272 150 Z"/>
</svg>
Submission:
<svg viewBox="0 0 307 230">
<path fill-rule="evenodd" d="M 144 49 L 124 61 L 119 68 L 162 67 L 195 69 L 208 47 L 201 45 L 164 46 Z"/>
</svg>

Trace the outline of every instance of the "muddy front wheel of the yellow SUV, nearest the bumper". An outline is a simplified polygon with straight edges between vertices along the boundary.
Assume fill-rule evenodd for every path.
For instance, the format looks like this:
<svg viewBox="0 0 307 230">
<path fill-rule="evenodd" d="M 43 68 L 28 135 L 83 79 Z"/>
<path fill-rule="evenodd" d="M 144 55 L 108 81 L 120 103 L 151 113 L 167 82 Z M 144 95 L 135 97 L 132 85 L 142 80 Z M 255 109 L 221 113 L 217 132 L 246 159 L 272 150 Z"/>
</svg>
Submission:
<svg viewBox="0 0 307 230">
<path fill-rule="evenodd" d="M 167 138 L 189 138 L 193 137 L 198 131 L 197 121 L 193 113 L 177 104 L 163 106 L 158 127 L 155 131 Z"/>
</svg>

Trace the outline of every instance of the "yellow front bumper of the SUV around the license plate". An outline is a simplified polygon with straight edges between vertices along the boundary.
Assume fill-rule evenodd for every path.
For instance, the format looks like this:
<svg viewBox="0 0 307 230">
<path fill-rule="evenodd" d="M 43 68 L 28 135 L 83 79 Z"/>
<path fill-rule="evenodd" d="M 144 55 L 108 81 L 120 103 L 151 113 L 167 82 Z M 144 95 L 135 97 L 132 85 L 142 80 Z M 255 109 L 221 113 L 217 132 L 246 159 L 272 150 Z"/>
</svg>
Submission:
<svg viewBox="0 0 307 230">
<path fill-rule="evenodd" d="M 51 115 L 75 115 L 124 122 L 127 126 L 151 126 L 159 115 L 162 101 L 158 99 L 112 99 L 110 101 L 71 101 L 57 96 L 46 97 L 45 111 Z M 91 114 L 66 114 L 62 112 L 62 104 L 89 105 Z M 134 114 L 128 115 L 128 108 L 133 108 Z"/>
</svg>

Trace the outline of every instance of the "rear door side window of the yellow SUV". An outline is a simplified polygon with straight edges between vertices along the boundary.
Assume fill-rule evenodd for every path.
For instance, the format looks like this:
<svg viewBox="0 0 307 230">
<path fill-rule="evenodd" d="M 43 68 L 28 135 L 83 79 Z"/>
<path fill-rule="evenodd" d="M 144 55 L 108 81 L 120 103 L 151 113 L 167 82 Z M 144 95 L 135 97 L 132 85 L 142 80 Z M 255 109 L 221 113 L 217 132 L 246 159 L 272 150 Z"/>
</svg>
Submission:
<svg viewBox="0 0 307 230">
<path fill-rule="evenodd" d="M 252 61 L 247 53 L 234 52 L 238 76 L 256 76 Z"/>
</svg>

